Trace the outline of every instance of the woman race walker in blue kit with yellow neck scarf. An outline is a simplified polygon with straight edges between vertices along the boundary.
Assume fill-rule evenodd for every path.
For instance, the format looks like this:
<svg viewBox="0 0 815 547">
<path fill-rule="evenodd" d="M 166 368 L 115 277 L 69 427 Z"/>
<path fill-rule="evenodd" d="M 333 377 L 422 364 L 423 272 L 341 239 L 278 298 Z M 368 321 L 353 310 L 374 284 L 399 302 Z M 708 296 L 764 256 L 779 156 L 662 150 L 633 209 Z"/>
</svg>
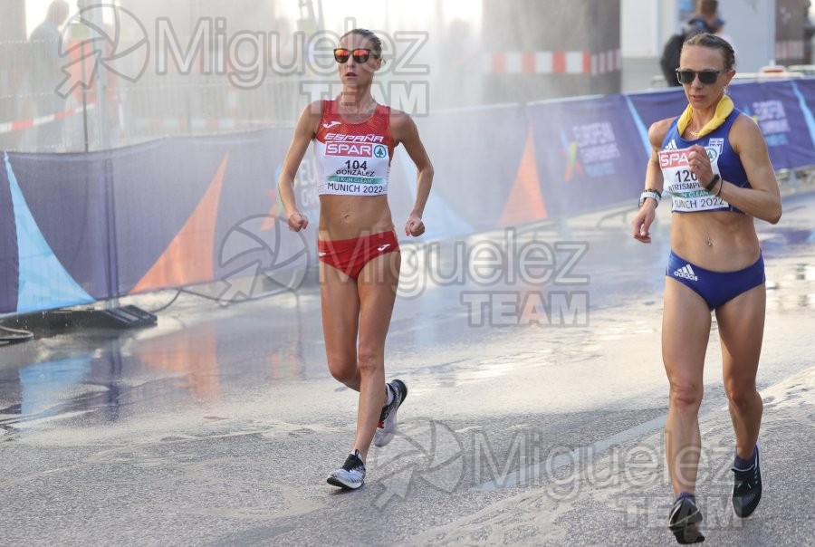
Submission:
<svg viewBox="0 0 815 547">
<path fill-rule="evenodd" d="M 762 495 L 755 387 L 762 350 L 766 293 L 753 218 L 775 224 L 781 196 L 762 131 L 733 108 L 724 89 L 733 79 L 733 47 L 697 34 L 682 49 L 676 77 L 688 106 L 648 130 L 653 151 L 633 235 L 648 230 L 663 191 L 672 197 L 671 253 L 665 283 L 662 359 L 670 383 L 665 427 L 667 469 L 676 501 L 669 528 L 680 543 L 704 541 L 695 483 L 702 441 L 705 351 L 715 312 L 722 344 L 724 389 L 735 432 L 733 510 L 747 517 Z"/>
</svg>

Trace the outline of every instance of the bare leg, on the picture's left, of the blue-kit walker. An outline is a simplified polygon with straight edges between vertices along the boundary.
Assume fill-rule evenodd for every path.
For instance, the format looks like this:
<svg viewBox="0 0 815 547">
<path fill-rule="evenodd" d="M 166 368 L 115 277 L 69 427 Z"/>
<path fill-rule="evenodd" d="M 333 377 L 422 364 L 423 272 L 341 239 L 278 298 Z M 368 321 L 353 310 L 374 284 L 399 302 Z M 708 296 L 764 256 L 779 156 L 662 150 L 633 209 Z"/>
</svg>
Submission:
<svg viewBox="0 0 815 547">
<path fill-rule="evenodd" d="M 674 495 L 695 491 L 702 450 L 698 415 L 710 325 L 710 310 L 702 297 L 686 285 L 667 278 L 662 360 L 670 383 L 665 448 Z"/>
</svg>

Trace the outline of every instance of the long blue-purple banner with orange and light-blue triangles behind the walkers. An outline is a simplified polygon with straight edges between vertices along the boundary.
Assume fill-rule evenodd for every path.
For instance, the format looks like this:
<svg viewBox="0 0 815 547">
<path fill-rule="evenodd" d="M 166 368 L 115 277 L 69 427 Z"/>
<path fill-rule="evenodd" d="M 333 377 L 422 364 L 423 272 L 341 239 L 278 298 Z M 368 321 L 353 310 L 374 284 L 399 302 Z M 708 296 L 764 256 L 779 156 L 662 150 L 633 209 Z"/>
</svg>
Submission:
<svg viewBox="0 0 815 547">
<path fill-rule="evenodd" d="M 815 80 L 730 88 L 767 139 L 775 168 L 815 165 Z M 426 239 L 608 206 L 633 207 L 647 128 L 686 107 L 681 90 L 441 111 L 417 120 L 436 170 Z M 295 180 L 312 220 L 285 224 L 277 178 L 292 129 L 165 139 L 91 154 L 0 152 L 0 314 L 34 312 L 196 283 L 269 283 L 313 261 L 317 166 Z M 416 168 L 398 147 L 388 202 L 401 234 Z M 245 294 L 245 296 L 251 296 Z"/>
</svg>

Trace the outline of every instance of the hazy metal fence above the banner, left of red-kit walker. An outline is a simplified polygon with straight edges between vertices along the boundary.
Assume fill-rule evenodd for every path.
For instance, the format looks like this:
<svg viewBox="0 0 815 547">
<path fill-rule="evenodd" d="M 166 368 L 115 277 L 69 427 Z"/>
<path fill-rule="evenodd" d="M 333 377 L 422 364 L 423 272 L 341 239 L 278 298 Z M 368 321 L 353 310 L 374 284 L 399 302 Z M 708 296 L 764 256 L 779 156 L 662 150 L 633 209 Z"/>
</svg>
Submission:
<svg viewBox="0 0 815 547">
<path fill-rule="evenodd" d="M 0 42 L 0 149 L 82 152 L 163 137 L 292 125 L 310 100 L 301 89 L 302 75 L 283 75 L 271 67 L 253 89 L 200 71 L 147 71 L 131 82 L 105 74 L 92 66 L 92 58 L 74 66 L 62 60 L 59 68 L 69 67 L 72 76 L 62 70 L 43 74 L 40 52 L 56 47 Z M 57 92 L 65 91 L 71 78 L 87 81 L 94 69 L 96 81 L 88 89 L 78 85 L 64 98 Z M 85 74 L 76 73 L 82 70 Z"/>
</svg>

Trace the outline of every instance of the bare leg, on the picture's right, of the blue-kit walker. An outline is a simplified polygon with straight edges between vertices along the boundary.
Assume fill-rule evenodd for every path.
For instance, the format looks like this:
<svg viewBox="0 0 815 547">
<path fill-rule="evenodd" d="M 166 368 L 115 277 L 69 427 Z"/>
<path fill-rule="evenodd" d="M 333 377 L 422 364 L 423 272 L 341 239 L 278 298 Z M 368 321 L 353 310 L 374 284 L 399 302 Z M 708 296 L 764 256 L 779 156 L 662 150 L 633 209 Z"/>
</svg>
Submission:
<svg viewBox="0 0 815 547">
<path fill-rule="evenodd" d="M 722 340 L 724 390 L 736 437 L 736 453 L 749 460 L 762 425 L 762 397 L 755 376 L 762 352 L 766 290 L 760 285 L 716 310 Z"/>
</svg>

